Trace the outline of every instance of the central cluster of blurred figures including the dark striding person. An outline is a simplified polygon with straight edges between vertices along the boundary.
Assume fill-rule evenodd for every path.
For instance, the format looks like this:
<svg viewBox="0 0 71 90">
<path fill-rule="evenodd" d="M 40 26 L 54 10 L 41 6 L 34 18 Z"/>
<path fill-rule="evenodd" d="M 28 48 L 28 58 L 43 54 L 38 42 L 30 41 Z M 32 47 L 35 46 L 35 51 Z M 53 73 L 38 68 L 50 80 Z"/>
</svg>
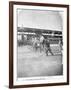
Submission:
<svg viewBox="0 0 71 90">
<path fill-rule="evenodd" d="M 45 51 L 46 55 L 48 55 L 48 52 L 50 52 L 51 55 L 53 55 L 53 52 L 50 47 L 50 40 L 48 39 L 48 37 L 44 38 L 44 36 L 40 35 L 39 37 L 35 37 L 32 39 L 33 48 L 35 51 L 39 49 L 40 52 Z"/>
</svg>

